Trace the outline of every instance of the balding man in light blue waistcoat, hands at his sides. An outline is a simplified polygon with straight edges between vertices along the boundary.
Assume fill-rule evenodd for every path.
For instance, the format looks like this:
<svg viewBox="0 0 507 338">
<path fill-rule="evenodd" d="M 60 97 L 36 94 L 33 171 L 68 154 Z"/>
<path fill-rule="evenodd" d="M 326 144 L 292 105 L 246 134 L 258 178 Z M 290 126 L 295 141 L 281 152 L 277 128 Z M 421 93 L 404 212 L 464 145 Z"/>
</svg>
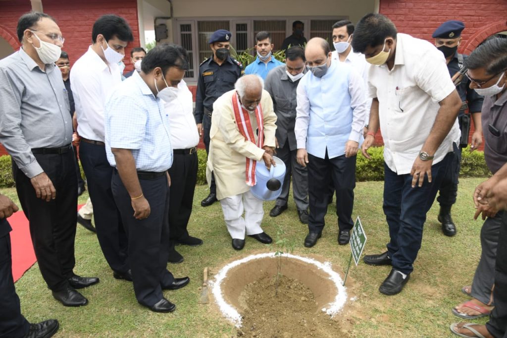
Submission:
<svg viewBox="0 0 507 338">
<path fill-rule="evenodd" d="M 350 241 L 357 148 L 363 142 L 367 113 L 363 78 L 348 64 L 331 59 L 327 41 L 313 38 L 305 48 L 310 74 L 297 89 L 298 163 L 308 166 L 310 216 L 305 247 L 322 234 L 333 182 L 338 216 L 338 244 Z"/>
</svg>

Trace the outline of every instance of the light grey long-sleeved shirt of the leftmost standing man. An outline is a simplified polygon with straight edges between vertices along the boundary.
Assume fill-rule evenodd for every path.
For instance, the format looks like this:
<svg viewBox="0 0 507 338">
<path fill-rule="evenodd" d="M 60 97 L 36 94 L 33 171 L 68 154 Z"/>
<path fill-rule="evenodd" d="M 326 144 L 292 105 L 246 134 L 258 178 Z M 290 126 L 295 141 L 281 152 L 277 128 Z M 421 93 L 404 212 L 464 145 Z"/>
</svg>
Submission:
<svg viewBox="0 0 507 338">
<path fill-rule="evenodd" d="M 43 72 L 23 48 L 0 60 L 0 143 L 20 170 L 43 172 L 31 148 L 59 148 L 72 141 L 70 106 L 60 71 Z"/>
</svg>

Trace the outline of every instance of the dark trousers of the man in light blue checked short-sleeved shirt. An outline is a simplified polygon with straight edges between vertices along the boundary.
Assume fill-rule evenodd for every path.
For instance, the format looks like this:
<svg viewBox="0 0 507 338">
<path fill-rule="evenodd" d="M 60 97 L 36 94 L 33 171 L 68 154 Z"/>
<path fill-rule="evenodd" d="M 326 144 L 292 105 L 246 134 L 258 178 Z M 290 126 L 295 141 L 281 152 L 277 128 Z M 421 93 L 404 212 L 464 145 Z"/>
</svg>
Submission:
<svg viewBox="0 0 507 338">
<path fill-rule="evenodd" d="M 151 308 L 164 297 L 162 288 L 174 281 L 172 274 L 167 271 L 169 187 L 165 175 L 139 180 L 139 183 L 151 209 L 150 216 L 142 220 L 134 218 L 130 195 L 116 170 L 111 188 L 128 236 L 135 297 L 140 304 Z"/>
</svg>

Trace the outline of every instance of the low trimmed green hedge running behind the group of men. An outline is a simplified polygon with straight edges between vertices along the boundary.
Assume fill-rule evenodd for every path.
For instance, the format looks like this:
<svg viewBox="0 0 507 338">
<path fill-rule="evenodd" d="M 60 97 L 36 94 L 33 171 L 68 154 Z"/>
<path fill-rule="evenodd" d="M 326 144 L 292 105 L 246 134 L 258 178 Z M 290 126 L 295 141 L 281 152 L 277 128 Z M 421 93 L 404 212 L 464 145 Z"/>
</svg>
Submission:
<svg viewBox="0 0 507 338">
<path fill-rule="evenodd" d="M 464 148 L 461 158 L 460 177 L 488 177 L 491 172 L 484 161 L 484 152 L 469 152 Z M 384 147 L 370 148 L 371 159 L 366 159 L 363 154 L 357 155 L 356 180 L 357 181 L 382 181 L 384 180 Z M 199 169 L 197 172 L 197 184 L 206 184 L 206 160 L 207 155 L 204 149 L 197 150 L 199 157 Z M 84 177 L 83 169 L 81 174 Z M 0 156 L 0 187 L 13 187 L 11 157 L 8 155 Z"/>
</svg>

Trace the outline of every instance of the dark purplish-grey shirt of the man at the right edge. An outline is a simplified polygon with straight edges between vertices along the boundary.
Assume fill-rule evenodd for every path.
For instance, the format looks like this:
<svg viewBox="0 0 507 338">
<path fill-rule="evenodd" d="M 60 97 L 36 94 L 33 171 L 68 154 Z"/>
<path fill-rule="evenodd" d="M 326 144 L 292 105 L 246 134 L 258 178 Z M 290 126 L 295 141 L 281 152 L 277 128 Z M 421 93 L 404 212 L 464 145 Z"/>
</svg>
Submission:
<svg viewBox="0 0 507 338">
<path fill-rule="evenodd" d="M 489 125 L 498 129 L 495 136 Z M 496 99 L 484 97 L 482 105 L 482 129 L 484 130 L 484 157 L 489 170 L 494 174 L 507 163 L 507 90 Z"/>
</svg>

